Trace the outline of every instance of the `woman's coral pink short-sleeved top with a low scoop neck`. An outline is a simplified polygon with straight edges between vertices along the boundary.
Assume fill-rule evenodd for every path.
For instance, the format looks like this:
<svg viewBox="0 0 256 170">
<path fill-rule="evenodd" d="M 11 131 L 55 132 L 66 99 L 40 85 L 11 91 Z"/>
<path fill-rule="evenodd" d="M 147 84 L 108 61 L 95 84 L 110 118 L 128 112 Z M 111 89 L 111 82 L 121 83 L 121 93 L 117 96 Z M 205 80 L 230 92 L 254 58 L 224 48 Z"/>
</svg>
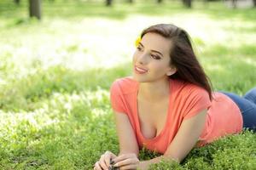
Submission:
<svg viewBox="0 0 256 170">
<path fill-rule="evenodd" d="M 113 111 L 129 117 L 140 149 L 144 146 L 148 150 L 164 154 L 183 120 L 204 109 L 207 109 L 207 121 L 197 146 L 201 147 L 227 133 L 239 133 L 242 130 L 241 111 L 228 96 L 215 92 L 211 101 L 205 89 L 189 82 L 170 79 L 166 124 L 159 135 L 146 139 L 141 132 L 137 113 L 138 85 L 139 82 L 131 77 L 120 78 L 113 82 L 110 94 Z"/>
</svg>

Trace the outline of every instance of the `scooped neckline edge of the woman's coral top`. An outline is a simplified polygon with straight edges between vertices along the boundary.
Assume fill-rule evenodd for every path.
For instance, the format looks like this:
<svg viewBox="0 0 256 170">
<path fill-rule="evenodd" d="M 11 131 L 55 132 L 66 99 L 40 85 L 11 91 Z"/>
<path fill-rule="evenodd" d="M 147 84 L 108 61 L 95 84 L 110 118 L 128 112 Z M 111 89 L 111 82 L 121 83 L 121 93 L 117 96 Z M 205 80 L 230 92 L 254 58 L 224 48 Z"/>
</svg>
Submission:
<svg viewBox="0 0 256 170">
<path fill-rule="evenodd" d="M 159 139 L 160 138 L 160 136 L 162 136 L 162 134 L 163 133 L 165 133 L 165 131 L 166 131 L 166 129 L 167 129 L 167 126 L 168 126 L 168 122 L 169 122 L 169 120 L 170 120 L 170 115 L 171 115 L 171 113 L 170 113 L 170 111 L 171 111 L 171 101 L 172 101 L 172 95 L 171 95 L 171 93 L 173 92 L 172 91 L 172 89 L 173 89 L 173 83 L 172 83 L 172 79 L 169 79 L 169 89 L 170 89 L 170 92 L 171 93 L 169 93 L 169 102 L 168 102 L 168 109 L 167 109 L 167 116 L 166 116 L 166 122 L 165 122 L 165 126 L 163 127 L 163 129 L 161 129 L 161 132 L 157 135 L 157 136 L 155 136 L 154 138 L 152 138 L 152 139 L 148 139 L 148 138 L 145 138 L 144 136 L 143 136 L 143 133 L 142 133 L 142 131 L 141 131 L 141 126 L 140 126 L 140 122 L 139 122 L 139 116 L 138 116 L 138 108 L 137 108 L 137 94 L 138 94 L 138 88 L 139 88 L 139 83 L 137 83 L 137 86 L 136 86 L 136 95 L 135 95 L 135 108 L 136 108 L 136 122 L 137 122 L 137 125 L 138 125 L 138 127 L 137 127 L 137 133 L 139 134 L 139 136 L 144 140 L 144 141 L 154 141 L 154 140 L 157 140 L 157 139 Z"/>
</svg>

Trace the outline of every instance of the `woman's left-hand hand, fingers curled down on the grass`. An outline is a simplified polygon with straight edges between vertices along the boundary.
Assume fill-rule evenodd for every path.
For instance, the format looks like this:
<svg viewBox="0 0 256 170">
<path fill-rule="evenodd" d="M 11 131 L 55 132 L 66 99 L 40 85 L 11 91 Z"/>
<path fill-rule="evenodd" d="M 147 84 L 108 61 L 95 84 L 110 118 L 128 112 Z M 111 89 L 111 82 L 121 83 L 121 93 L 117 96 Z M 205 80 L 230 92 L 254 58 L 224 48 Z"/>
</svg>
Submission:
<svg viewBox="0 0 256 170">
<path fill-rule="evenodd" d="M 110 161 L 116 158 L 111 151 L 106 151 L 100 158 L 100 161 L 96 161 L 94 164 L 94 170 L 108 170 L 110 167 Z M 111 167 L 110 167 L 111 169 Z"/>
</svg>

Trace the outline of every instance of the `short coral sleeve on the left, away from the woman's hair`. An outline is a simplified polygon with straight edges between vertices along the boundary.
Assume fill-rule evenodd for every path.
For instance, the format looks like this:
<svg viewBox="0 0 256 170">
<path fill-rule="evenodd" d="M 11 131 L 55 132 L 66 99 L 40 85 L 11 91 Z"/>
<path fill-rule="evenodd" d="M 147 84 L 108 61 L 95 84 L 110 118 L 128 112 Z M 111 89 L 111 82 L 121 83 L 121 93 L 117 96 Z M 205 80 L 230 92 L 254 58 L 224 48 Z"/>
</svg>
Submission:
<svg viewBox="0 0 256 170">
<path fill-rule="evenodd" d="M 110 88 L 110 101 L 113 111 L 125 113 L 125 100 L 119 85 L 119 81 L 113 82 Z"/>
</svg>

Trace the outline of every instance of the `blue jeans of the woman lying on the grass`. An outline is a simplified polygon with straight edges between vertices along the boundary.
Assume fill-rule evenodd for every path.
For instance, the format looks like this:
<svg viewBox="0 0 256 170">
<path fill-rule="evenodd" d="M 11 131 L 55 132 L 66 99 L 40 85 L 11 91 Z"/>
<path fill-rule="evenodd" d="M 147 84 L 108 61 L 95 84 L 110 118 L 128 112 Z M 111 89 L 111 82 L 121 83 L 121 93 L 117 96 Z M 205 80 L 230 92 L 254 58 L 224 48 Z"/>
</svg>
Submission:
<svg viewBox="0 0 256 170">
<path fill-rule="evenodd" d="M 256 88 L 249 90 L 243 97 L 229 92 L 222 92 L 239 107 L 243 119 L 243 128 L 256 132 Z"/>
</svg>

